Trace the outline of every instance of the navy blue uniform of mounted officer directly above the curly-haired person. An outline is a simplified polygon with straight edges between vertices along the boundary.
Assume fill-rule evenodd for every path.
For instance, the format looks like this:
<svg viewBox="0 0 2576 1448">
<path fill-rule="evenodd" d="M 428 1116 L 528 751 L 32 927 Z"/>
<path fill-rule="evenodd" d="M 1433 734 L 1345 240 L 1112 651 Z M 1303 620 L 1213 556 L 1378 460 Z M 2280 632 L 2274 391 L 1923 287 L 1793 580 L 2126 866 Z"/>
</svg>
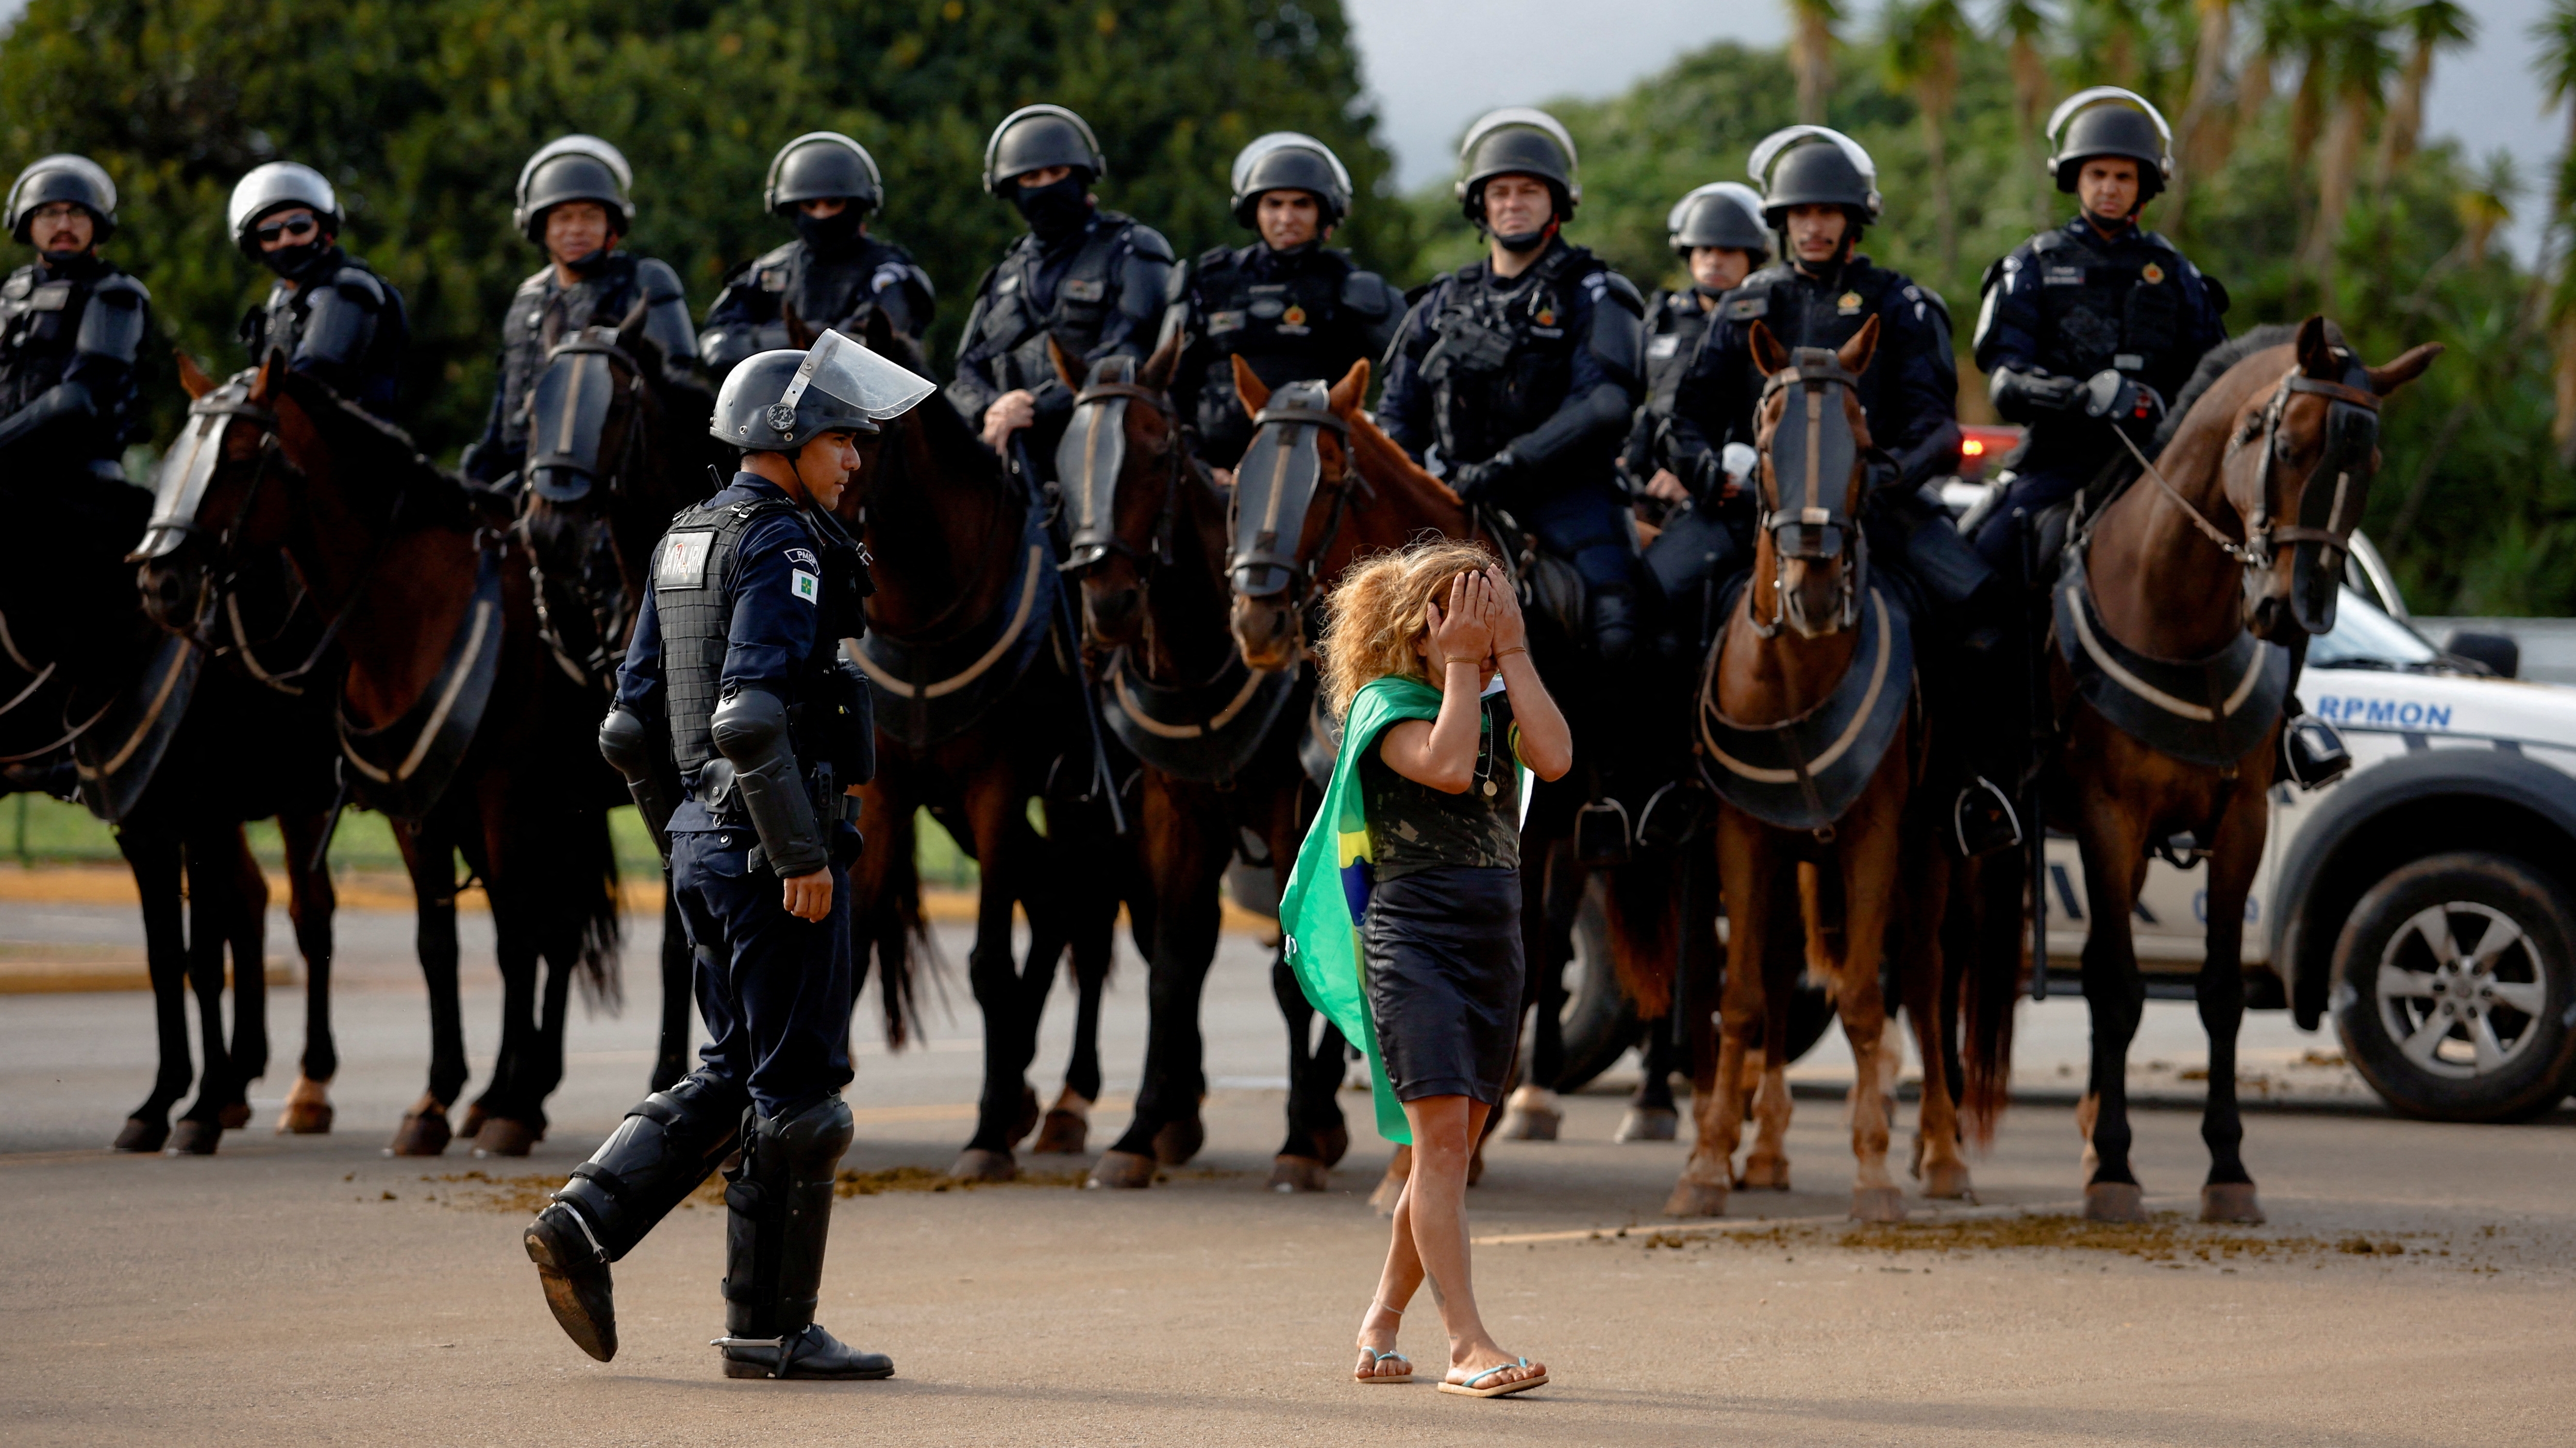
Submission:
<svg viewBox="0 0 2576 1448">
<path fill-rule="evenodd" d="M 1386 433 L 1414 459 L 1437 446 L 1453 482 L 1507 456 L 1492 500 L 1595 595 L 1633 595 L 1638 580 L 1615 459 L 1641 394 L 1643 312 L 1636 283 L 1556 237 L 1520 276 L 1479 260 L 1435 281 L 1386 353 Z"/>
</svg>

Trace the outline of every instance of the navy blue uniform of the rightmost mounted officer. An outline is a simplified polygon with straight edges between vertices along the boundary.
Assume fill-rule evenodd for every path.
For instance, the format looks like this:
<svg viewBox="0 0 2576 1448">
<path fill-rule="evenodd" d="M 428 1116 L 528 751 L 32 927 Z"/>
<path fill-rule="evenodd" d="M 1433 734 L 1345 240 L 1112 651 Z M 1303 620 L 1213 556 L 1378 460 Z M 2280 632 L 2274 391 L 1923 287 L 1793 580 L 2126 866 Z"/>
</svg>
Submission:
<svg viewBox="0 0 2576 1448">
<path fill-rule="evenodd" d="M 1986 268 L 1976 317 L 1976 366 L 2022 374 L 2038 389 L 1999 389 L 1999 410 L 2030 425 L 2014 459 L 2012 492 L 1986 515 L 1976 546 L 2004 567 L 2014 546 L 2012 510 L 2038 515 L 2128 456 L 2112 423 L 2089 417 L 2079 397 L 2043 399 L 2102 371 L 2156 389 L 2172 402 L 2200 356 L 2226 340 L 2228 294 L 2200 276 L 2172 242 L 2138 224 L 2112 234 L 2076 216 L 2030 237 Z M 2050 381 L 2058 379 L 2058 381 Z M 2128 423 L 2146 448 L 2154 417 Z"/>
</svg>

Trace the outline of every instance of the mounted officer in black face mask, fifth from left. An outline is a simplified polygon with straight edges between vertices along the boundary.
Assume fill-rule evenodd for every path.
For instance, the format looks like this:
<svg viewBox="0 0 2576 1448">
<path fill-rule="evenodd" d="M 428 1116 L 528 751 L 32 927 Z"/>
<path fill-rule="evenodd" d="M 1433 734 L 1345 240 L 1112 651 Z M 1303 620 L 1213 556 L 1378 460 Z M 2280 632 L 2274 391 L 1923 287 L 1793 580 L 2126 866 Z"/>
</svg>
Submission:
<svg viewBox="0 0 2576 1448">
<path fill-rule="evenodd" d="M 1092 129 L 1064 106 L 1023 106 L 984 142 L 984 191 L 1018 206 L 1028 234 L 976 283 L 948 402 L 1005 456 L 1028 428 L 1036 466 L 1051 466 L 1074 415 L 1046 340 L 1087 371 L 1108 356 L 1141 361 L 1162 322 L 1172 242 L 1097 209 L 1105 173 Z"/>
</svg>

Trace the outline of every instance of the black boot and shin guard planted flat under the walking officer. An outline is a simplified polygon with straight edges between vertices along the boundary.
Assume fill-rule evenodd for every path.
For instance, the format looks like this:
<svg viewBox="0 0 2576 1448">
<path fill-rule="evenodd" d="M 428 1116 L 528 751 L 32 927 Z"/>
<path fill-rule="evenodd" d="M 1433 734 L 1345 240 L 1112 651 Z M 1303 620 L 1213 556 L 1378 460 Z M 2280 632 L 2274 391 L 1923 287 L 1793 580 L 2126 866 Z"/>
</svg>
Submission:
<svg viewBox="0 0 2576 1448">
<path fill-rule="evenodd" d="M 850 1108 L 829 1095 L 796 1113 L 744 1113 L 742 1162 L 726 1172 L 726 1378 L 891 1378 L 894 1360 L 814 1324 L 832 1170 L 850 1149 Z"/>
</svg>

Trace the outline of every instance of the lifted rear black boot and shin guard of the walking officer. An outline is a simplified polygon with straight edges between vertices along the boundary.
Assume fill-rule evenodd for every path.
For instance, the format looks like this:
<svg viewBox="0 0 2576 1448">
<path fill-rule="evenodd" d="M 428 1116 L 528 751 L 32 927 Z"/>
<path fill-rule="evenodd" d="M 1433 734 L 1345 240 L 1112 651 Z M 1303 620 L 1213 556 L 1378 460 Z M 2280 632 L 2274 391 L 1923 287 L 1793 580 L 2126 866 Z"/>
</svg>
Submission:
<svg viewBox="0 0 2576 1448">
<path fill-rule="evenodd" d="M 528 1224 L 523 1244 L 536 1262 L 546 1306 L 572 1342 L 598 1360 L 618 1355 L 618 1319 L 608 1262 L 644 1239 L 698 1190 L 734 1149 L 742 1092 L 703 1074 L 680 1077 L 644 1098 L 616 1134 L 554 1193 Z"/>
</svg>

